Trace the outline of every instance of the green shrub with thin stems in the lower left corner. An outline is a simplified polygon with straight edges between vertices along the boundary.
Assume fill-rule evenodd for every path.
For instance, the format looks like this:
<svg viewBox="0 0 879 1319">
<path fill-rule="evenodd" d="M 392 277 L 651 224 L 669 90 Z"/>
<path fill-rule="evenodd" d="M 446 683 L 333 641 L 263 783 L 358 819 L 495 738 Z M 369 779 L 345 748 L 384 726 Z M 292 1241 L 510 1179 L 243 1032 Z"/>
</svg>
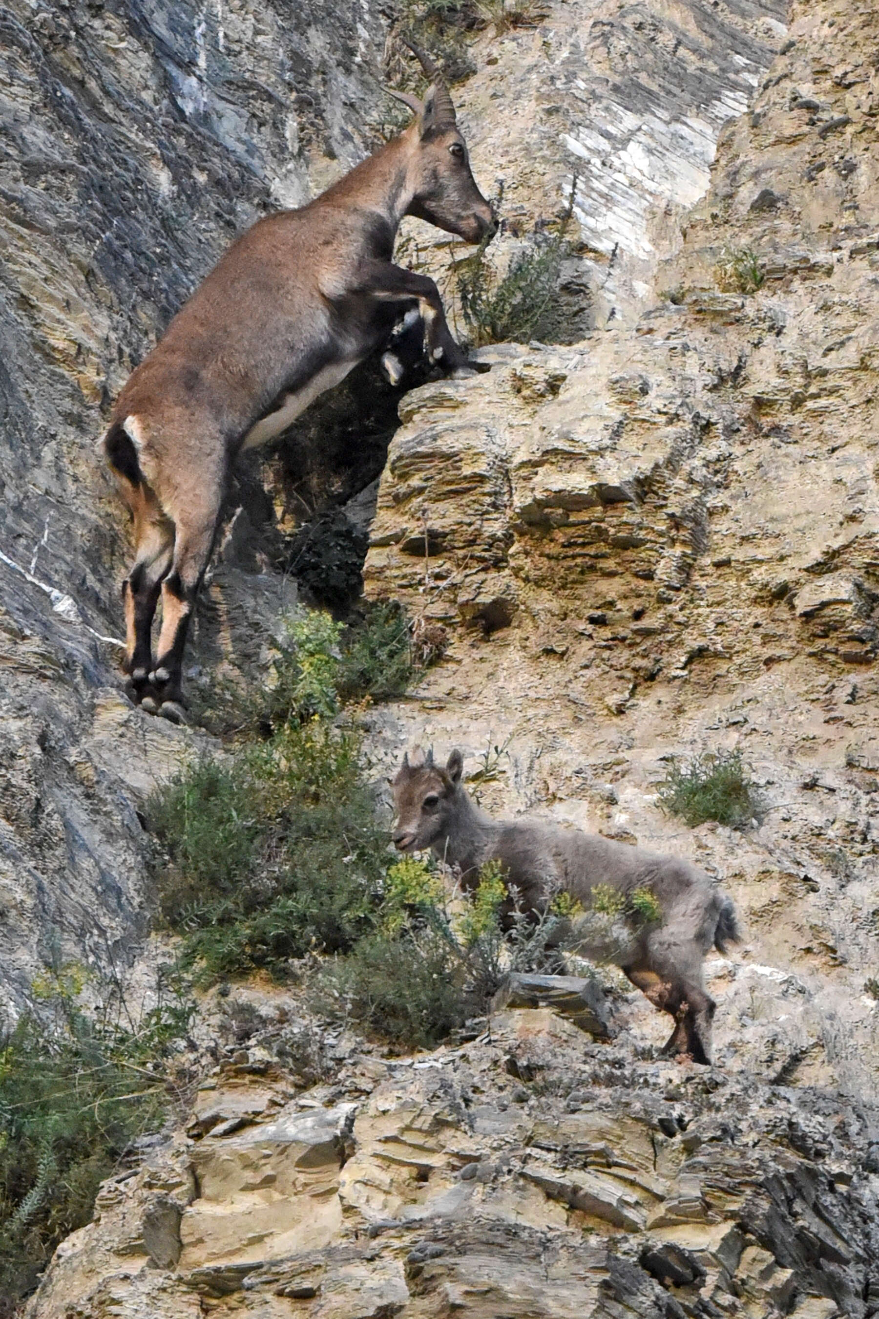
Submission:
<svg viewBox="0 0 879 1319">
<path fill-rule="evenodd" d="M 137 1024 L 84 1013 L 84 976 L 34 981 L 33 1006 L 0 1029 L 0 1314 L 36 1286 L 58 1242 L 91 1220 L 100 1182 L 163 1122 L 159 1063 L 192 1006 L 159 1000 Z M 112 997 L 112 987 L 101 995 Z M 5 1306 L 5 1308 L 4 1308 Z"/>
</svg>

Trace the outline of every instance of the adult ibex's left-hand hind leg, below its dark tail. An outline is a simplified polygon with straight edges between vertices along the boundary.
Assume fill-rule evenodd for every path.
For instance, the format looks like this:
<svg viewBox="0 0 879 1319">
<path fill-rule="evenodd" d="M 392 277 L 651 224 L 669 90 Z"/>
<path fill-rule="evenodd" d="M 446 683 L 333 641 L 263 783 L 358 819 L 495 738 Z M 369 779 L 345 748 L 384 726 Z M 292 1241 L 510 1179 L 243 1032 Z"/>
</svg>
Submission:
<svg viewBox="0 0 879 1319">
<path fill-rule="evenodd" d="M 134 517 L 134 563 L 123 582 L 125 605 L 125 691 L 140 704 L 149 695 L 153 667 L 152 630 L 162 578 L 171 566 L 174 526 L 153 491 L 140 483 L 128 492 Z"/>
</svg>

